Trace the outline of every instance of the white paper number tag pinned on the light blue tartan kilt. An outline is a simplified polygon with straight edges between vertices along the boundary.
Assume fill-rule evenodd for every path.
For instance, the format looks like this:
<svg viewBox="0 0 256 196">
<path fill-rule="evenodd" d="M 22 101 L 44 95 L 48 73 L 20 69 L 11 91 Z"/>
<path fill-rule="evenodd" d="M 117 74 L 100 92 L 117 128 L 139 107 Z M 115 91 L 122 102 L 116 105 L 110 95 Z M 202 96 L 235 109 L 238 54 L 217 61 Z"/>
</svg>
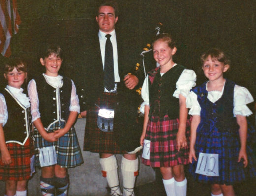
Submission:
<svg viewBox="0 0 256 196">
<path fill-rule="evenodd" d="M 55 165 L 57 163 L 57 155 L 55 146 L 40 148 L 39 161 L 41 167 Z"/>
</svg>

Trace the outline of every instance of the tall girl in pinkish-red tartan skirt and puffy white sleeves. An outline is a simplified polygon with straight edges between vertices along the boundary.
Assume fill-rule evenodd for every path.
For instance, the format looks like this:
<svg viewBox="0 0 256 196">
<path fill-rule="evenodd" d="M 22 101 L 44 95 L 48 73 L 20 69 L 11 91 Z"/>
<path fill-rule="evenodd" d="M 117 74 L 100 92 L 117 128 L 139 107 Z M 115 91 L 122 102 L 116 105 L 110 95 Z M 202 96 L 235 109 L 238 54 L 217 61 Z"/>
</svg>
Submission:
<svg viewBox="0 0 256 196">
<path fill-rule="evenodd" d="M 176 50 L 169 34 L 160 34 L 153 42 L 160 66 L 148 73 L 142 87 L 145 117 L 140 143 L 142 163 L 160 167 L 167 196 L 186 196 L 183 165 L 189 163 L 190 126 L 186 97 L 196 74 L 173 62 Z"/>
</svg>

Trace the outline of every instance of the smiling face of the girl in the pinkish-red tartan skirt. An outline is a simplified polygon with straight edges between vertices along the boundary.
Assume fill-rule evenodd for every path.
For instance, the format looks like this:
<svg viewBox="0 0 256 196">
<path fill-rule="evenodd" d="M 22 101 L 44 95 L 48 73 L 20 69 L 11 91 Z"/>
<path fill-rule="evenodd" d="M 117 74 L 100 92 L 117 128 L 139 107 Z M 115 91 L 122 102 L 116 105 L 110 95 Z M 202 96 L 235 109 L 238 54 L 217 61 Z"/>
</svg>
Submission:
<svg viewBox="0 0 256 196">
<path fill-rule="evenodd" d="M 161 67 L 170 65 L 172 63 L 172 56 L 176 53 L 176 47 L 171 49 L 169 45 L 163 40 L 157 40 L 153 46 L 153 56 Z"/>
</svg>

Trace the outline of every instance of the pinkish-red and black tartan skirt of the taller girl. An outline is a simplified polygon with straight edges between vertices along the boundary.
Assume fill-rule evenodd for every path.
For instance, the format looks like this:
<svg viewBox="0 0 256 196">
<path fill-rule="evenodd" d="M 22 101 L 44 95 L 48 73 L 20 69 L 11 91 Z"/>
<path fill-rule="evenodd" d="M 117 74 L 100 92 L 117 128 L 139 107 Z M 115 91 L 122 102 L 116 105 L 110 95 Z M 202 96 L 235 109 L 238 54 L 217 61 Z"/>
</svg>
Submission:
<svg viewBox="0 0 256 196">
<path fill-rule="evenodd" d="M 186 122 L 187 146 L 178 152 L 176 136 L 179 128 L 178 119 L 169 119 L 165 115 L 162 120 L 157 116 L 149 119 L 145 139 L 150 141 L 150 158 L 142 158 L 142 163 L 151 167 L 173 167 L 189 163 L 190 120 Z"/>
</svg>

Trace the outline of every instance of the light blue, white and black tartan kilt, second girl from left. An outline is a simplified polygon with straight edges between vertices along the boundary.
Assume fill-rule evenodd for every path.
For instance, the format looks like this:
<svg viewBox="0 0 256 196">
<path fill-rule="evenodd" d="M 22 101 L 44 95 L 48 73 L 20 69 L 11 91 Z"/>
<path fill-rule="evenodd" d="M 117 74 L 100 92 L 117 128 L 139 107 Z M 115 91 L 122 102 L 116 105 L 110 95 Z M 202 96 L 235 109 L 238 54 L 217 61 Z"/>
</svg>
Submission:
<svg viewBox="0 0 256 196">
<path fill-rule="evenodd" d="M 55 123 L 50 127 L 48 132 L 63 128 L 60 123 Z M 35 166 L 40 167 L 39 153 L 40 148 L 55 146 L 57 155 L 57 164 L 64 168 L 72 168 L 81 165 L 83 161 L 82 153 L 79 147 L 78 139 L 76 136 L 75 128 L 71 129 L 56 142 L 46 141 L 36 128 L 34 128 L 35 138 Z"/>
</svg>

